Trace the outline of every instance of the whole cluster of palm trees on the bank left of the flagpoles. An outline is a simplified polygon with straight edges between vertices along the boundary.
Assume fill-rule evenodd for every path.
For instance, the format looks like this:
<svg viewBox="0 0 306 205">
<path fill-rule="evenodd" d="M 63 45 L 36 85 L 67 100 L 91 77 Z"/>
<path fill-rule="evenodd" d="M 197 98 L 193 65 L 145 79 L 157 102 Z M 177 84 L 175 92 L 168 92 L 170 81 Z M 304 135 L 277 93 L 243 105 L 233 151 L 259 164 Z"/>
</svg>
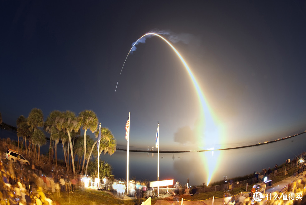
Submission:
<svg viewBox="0 0 306 205">
<path fill-rule="evenodd" d="M 0 120 L 2 121 L 1 114 Z M 78 116 L 72 111 L 55 110 L 50 112 L 44 121 L 41 109 L 33 108 L 28 117 L 19 116 L 16 124 L 18 148 L 20 148 L 19 138 L 22 137 L 26 154 L 32 154 L 37 160 L 40 159 L 40 147 L 47 143 L 45 133 L 39 127 L 50 134 L 49 162 L 53 163 L 55 155 L 55 166 L 57 166 L 57 144 L 61 141 L 67 172 L 72 169 L 74 176 L 76 173 L 87 174 L 91 157 L 98 156 L 96 145 L 98 140 L 94 141 L 86 135 L 87 130 L 90 130 L 98 138 L 98 117 L 91 110 L 84 110 Z M 84 130 L 84 137 L 80 136 L 80 129 Z M 117 141 L 112 132 L 107 127 L 101 127 L 99 154 L 104 152 L 112 155 L 116 151 L 116 146 Z M 78 160 L 75 165 L 76 155 Z M 87 161 L 86 167 L 85 161 Z"/>
</svg>

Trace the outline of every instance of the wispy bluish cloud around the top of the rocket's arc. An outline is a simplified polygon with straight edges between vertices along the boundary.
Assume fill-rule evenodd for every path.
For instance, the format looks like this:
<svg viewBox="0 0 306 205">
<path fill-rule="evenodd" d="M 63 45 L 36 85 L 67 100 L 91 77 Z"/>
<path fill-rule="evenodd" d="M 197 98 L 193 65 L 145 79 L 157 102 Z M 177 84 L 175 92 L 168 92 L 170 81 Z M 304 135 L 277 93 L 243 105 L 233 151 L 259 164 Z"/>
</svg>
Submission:
<svg viewBox="0 0 306 205">
<path fill-rule="evenodd" d="M 172 43 L 177 43 L 177 42 L 182 42 L 184 44 L 188 44 L 191 39 L 194 37 L 192 34 L 189 33 L 180 33 L 180 34 L 176 34 L 170 31 L 158 31 L 158 30 L 151 30 L 148 33 L 156 33 L 159 35 L 167 35 L 167 40 L 171 41 Z M 146 43 L 146 39 L 147 38 L 151 38 L 154 35 L 148 35 L 148 36 L 144 36 L 142 37 L 139 41 L 136 41 L 132 43 L 132 49 L 131 49 L 131 53 L 133 53 L 133 51 L 136 50 L 136 45 L 140 44 L 140 43 Z"/>
</svg>

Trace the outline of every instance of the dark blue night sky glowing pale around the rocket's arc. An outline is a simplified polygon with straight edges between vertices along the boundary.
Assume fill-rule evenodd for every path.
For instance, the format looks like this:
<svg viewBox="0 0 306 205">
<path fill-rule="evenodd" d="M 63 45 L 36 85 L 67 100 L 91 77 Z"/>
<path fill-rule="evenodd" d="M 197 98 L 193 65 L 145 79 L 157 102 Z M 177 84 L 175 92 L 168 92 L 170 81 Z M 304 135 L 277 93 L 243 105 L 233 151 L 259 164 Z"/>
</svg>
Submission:
<svg viewBox="0 0 306 205">
<path fill-rule="evenodd" d="M 157 122 L 161 150 L 209 148 L 194 132 L 202 115 L 194 84 L 159 37 L 137 45 L 119 76 L 133 42 L 165 31 L 222 127 L 222 147 L 306 130 L 305 1 L 0 4 L 0 112 L 7 124 L 16 126 L 34 107 L 44 119 L 53 110 L 93 110 L 124 148 L 131 112 L 131 148 L 154 146 Z"/>
</svg>

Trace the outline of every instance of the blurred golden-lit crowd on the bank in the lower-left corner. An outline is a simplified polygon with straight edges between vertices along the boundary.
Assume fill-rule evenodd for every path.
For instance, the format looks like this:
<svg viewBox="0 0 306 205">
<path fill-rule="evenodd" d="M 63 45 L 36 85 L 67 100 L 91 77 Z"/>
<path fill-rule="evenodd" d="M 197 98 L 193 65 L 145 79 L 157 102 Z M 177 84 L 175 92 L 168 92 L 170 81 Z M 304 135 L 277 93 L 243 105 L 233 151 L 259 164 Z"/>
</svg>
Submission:
<svg viewBox="0 0 306 205">
<path fill-rule="evenodd" d="M 61 197 L 61 192 L 83 186 L 80 177 L 68 177 L 52 170 L 44 173 L 38 166 L 12 163 L 0 155 L 0 205 L 56 204 L 50 195 Z"/>
</svg>

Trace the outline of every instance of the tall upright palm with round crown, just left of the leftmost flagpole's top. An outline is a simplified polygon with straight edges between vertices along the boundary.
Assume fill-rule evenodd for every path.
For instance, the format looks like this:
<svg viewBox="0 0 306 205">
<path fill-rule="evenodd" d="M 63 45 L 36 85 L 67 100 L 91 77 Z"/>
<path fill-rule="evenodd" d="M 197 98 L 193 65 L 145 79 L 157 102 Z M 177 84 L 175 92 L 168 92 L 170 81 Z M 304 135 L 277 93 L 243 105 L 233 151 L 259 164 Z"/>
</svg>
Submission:
<svg viewBox="0 0 306 205">
<path fill-rule="evenodd" d="M 84 110 L 79 113 L 78 117 L 79 122 L 81 123 L 81 126 L 84 130 L 84 159 L 83 159 L 83 165 L 81 173 L 83 174 L 84 165 L 85 165 L 85 156 L 86 156 L 86 132 L 87 129 L 89 129 L 92 133 L 95 132 L 98 127 L 98 117 L 96 113 L 94 113 L 91 110 Z"/>
</svg>

